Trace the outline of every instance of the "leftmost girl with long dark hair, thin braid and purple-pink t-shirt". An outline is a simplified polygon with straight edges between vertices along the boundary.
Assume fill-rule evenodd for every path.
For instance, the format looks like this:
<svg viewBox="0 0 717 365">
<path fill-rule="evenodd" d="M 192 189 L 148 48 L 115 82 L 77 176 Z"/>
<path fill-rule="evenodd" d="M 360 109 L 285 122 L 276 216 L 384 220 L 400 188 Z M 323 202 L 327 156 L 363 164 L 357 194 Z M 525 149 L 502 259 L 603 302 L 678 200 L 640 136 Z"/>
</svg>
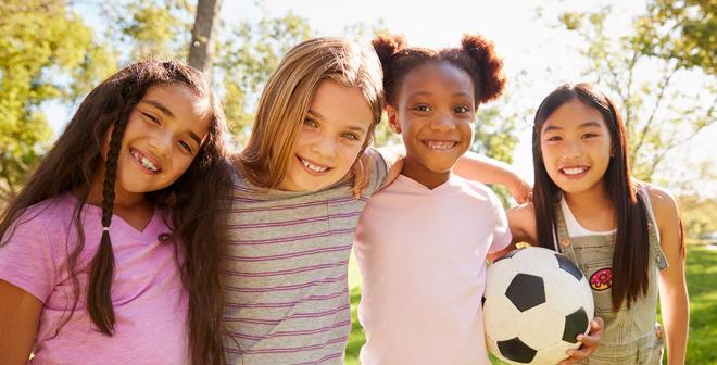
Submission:
<svg viewBox="0 0 717 365">
<path fill-rule="evenodd" d="M 175 61 L 87 96 L 0 217 L 0 363 L 219 363 L 225 127 Z"/>
</svg>

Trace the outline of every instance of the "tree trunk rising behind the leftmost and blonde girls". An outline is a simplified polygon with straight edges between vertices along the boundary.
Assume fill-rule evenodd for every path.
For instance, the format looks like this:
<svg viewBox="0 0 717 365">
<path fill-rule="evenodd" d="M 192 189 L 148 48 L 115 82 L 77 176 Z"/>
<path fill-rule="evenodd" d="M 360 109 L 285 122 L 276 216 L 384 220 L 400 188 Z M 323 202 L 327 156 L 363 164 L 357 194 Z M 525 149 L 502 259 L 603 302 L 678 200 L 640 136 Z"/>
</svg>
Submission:
<svg viewBox="0 0 717 365">
<path fill-rule="evenodd" d="M 214 55 L 214 39 L 219 22 L 222 0 L 198 0 L 197 17 L 191 29 L 191 43 L 187 62 L 204 76 L 212 77 L 212 58 Z"/>
</svg>

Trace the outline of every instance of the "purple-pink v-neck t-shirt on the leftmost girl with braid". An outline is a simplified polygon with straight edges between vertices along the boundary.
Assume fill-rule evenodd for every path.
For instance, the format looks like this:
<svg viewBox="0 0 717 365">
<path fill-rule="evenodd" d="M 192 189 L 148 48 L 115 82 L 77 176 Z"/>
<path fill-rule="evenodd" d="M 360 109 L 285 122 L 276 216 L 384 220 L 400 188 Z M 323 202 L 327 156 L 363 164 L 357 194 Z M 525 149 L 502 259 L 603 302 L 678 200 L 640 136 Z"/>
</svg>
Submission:
<svg viewBox="0 0 717 365">
<path fill-rule="evenodd" d="M 183 288 L 168 232 L 155 210 L 138 231 L 113 216 L 110 237 L 115 257 L 112 304 L 115 333 L 108 337 L 91 325 L 86 311 L 87 264 L 97 252 L 102 210 L 85 205 L 85 248 L 77 260 L 81 293 L 77 309 L 56 333 L 72 309 L 72 281 L 66 257 L 76 242 L 72 212 L 76 199 L 64 193 L 30 206 L 15 222 L 0 247 L 0 279 L 42 301 L 42 314 L 32 364 L 188 364 L 187 294 Z M 5 237 L 5 239 L 8 238 Z M 67 247 L 70 242 L 70 247 Z"/>
</svg>

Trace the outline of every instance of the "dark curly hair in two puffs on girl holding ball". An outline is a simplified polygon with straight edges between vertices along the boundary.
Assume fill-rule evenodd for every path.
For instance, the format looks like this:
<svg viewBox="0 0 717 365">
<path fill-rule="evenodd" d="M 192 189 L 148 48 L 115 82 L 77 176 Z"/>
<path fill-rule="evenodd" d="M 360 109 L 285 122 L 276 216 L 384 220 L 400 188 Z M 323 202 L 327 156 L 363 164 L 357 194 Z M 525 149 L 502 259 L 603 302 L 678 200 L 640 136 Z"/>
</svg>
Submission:
<svg viewBox="0 0 717 365">
<path fill-rule="evenodd" d="M 429 62 L 449 62 L 465 71 L 474 85 L 476 108 L 501 96 L 505 88 L 503 60 L 490 40 L 478 35 L 464 35 L 461 48 L 433 50 L 407 47 L 400 35 L 379 35 L 372 41 L 383 68 L 386 102 L 395 106 L 402 81 L 412 70 Z"/>
</svg>

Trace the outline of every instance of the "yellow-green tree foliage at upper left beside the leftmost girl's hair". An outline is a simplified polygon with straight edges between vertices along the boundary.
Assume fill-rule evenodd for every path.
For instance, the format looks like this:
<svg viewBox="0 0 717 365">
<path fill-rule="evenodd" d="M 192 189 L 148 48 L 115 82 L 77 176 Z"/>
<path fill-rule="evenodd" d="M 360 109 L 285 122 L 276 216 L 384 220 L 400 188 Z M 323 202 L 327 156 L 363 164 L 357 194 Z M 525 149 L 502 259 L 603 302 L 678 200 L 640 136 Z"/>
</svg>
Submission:
<svg viewBox="0 0 717 365">
<path fill-rule="evenodd" d="M 64 1 L 3 1 L 0 13 L 0 201 L 7 201 L 52 137 L 40 106 L 74 102 L 114 68 L 114 58 Z"/>
</svg>

